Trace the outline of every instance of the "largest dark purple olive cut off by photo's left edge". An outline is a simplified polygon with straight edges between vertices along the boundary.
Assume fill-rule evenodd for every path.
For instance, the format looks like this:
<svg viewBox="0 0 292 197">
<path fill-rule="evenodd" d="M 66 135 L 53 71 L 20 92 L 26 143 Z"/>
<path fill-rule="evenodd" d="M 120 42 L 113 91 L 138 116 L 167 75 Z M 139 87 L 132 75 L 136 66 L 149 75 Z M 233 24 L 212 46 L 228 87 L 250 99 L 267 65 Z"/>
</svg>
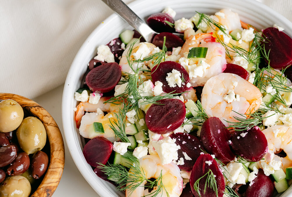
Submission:
<svg viewBox="0 0 292 197">
<path fill-rule="evenodd" d="M 0 147 L 0 168 L 12 163 L 16 155 L 15 146 Z"/>
</svg>

